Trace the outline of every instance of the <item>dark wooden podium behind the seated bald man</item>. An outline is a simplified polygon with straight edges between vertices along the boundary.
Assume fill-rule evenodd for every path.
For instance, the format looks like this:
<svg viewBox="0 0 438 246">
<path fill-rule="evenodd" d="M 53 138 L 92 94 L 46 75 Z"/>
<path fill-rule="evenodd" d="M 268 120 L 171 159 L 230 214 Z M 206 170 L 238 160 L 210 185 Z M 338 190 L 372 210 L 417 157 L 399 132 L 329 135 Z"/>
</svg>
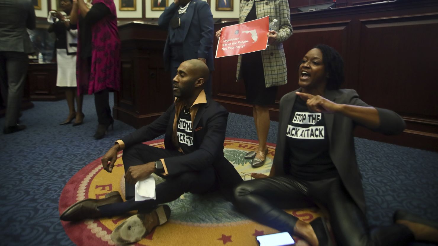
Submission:
<svg viewBox="0 0 438 246">
<path fill-rule="evenodd" d="M 119 25 L 121 87 L 114 94 L 113 116 L 135 128 L 158 118 L 173 102 L 170 71 L 164 70 L 167 30 L 154 22 Z"/>
</svg>

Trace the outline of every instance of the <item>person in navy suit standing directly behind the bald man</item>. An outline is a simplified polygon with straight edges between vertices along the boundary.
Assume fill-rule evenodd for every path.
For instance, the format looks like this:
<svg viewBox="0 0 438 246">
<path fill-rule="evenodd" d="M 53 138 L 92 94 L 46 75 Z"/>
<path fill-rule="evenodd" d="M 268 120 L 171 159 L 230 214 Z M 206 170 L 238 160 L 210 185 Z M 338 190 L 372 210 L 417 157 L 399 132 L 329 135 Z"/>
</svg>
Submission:
<svg viewBox="0 0 438 246">
<path fill-rule="evenodd" d="M 161 27 L 168 28 L 164 46 L 164 66 L 173 78 L 181 62 L 199 59 L 210 70 L 205 94 L 211 96 L 213 65 L 213 15 L 207 2 L 201 0 L 174 0 L 158 19 Z"/>
</svg>

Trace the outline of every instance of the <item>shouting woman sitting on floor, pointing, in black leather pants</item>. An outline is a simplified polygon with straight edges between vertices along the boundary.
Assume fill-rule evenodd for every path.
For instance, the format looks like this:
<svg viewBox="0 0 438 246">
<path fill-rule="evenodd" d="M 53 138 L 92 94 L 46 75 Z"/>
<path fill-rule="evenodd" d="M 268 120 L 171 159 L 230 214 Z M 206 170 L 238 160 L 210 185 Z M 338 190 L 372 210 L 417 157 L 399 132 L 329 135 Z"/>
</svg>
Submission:
<svg viewBox="0 0 438 246">
<path fill-rule="evenodd" d="M 355 90 L 340 90 L 343 80 L 343 59 L 332 47 L 317 45 L 304 55 L 300 88 L 280 101 L 269 177 L 254 173 L 257 179 L 236 187 L 233 204 L 255 221 L 300 236 L 312 246 L 333 245 L 324 220 L 309 224 L 283 209 L 318 204 L 328 211 L 338 246 L 438 242 L 438 223 L 403 211 L 395 213 L 391 226 L 368 228 L 353 129 L 359 124 L 391 135 L 402 132 L 405 122 L 393 111 L 364 103 Z"/>
</svg>

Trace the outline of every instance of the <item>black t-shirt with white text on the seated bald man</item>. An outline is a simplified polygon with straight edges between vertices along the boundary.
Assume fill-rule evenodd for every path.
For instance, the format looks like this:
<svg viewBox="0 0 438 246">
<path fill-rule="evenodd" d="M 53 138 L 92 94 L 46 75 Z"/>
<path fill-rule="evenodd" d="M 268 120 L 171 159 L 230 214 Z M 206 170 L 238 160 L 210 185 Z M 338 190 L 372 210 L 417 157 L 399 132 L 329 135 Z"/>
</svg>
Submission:
<svg viewBox="0 0 438 246">
<path fill-rule="evenodd" d="M 177 137 L 178 147 L 183 150 L 184 154 L 191 153 L 195 150 L 193 145 L 192 121 L 189 110 L 182 108 L 178 117 Z M 185 113 L 188 112 L 188 113 Z"/>
</svg>

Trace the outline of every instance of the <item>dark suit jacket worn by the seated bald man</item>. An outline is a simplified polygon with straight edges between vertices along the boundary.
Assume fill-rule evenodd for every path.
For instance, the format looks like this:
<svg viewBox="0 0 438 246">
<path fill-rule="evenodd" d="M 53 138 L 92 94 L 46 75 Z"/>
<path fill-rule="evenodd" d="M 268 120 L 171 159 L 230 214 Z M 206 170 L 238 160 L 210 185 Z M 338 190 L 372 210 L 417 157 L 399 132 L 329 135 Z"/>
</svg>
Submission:
<svg viewBox="0 0 438 246">
<path fill-rule="evenodd" d="M 199 104 L 192 127 L 196 150 L 184 156 L 164 158 L 164 162 L 169 176 L 199 171 L 213 166 L 220 190 L 226 198 L 230 198 L 231 189 L 240 183 L 242 178 L 234 169 L 233 164 L 223 156 L 228 111 L 209 97 L 206 97 L 206 99 L 207 103 Z M 164 146 L 166 149 L 178 150 L 172 142 L 175 117 L 175 104 L 172 104 L 154 122 L 123 137 L 121 140 L 125 144 L 125 149 L 165 134 Z"/>
</svg>

